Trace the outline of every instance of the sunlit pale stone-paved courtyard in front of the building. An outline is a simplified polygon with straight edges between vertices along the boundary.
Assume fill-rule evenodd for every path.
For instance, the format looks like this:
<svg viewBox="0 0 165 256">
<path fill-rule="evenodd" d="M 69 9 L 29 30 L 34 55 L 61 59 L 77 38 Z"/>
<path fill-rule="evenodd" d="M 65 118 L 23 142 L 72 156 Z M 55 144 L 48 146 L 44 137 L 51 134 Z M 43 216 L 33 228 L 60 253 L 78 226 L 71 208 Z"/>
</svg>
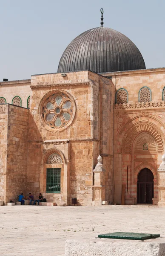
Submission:
<svg viewBox="0 0 165 256">
<path fill-rule="evenodd" d="M 113 231 L 165 236 L 165 208 L 0 207 L 0 255 L 64 256 L 66 239 Z"/>
</svg>

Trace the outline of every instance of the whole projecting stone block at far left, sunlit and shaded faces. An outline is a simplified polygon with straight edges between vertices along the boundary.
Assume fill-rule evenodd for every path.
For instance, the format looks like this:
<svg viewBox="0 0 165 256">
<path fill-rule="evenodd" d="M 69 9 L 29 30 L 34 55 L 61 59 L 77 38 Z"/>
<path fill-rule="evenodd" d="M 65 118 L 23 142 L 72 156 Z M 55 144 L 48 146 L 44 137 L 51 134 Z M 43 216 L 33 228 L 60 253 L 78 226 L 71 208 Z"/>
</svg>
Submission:
<svg viewBox="0 0 165 256">
<path fill-rule="evenodd" d="M 5 204 L 26 192 L 28 112 L 9 104 L 0 106 L 0 199 Z"/>
</svg>

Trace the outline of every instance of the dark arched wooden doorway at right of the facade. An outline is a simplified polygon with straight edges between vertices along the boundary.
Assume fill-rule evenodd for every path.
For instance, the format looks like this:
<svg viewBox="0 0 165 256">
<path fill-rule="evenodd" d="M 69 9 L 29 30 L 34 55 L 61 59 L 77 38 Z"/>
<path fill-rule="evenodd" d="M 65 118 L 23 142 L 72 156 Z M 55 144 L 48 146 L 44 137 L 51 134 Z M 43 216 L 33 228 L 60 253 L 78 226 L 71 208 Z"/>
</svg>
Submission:
<svg viewBox="0 0 165 256">
<path fill-rule="evenodd" d="M 154 175 L 150 169 L 144 168 L 137 178 L 137 204 L 152 204 L 154 198 Z"/>
</svg>

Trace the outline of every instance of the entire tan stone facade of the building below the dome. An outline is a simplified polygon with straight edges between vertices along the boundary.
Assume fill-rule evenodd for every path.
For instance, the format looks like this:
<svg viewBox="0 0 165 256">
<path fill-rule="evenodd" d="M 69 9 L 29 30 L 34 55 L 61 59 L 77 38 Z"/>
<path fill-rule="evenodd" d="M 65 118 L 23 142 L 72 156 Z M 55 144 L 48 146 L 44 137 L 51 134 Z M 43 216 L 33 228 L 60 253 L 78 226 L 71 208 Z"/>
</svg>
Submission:
<svg viewBox="0 0 165 256">
<path fill-rule="evenodd" d="M 22 108 L 0 105 L 0 200 L 6 204 L 20 192 L 34 197 L 41 192 L 57 205 L 77 198 L 77 205 L 90 206 L 101 155 L 101 201 L 121 204 L 125 185 L 125 204 L 137 204 L 138 175 L 147 168 L 154 175 L 156 204 L 157 168 L 165 150 L 164 86 L 165 68 L 1 82 L 0 97 L 11 103 L 19 96 Z M 59 162 L 48 162 L 52 154 Z M 48 192 L 47 169 L 60 169 L 60 191 Z"/>
</svg>

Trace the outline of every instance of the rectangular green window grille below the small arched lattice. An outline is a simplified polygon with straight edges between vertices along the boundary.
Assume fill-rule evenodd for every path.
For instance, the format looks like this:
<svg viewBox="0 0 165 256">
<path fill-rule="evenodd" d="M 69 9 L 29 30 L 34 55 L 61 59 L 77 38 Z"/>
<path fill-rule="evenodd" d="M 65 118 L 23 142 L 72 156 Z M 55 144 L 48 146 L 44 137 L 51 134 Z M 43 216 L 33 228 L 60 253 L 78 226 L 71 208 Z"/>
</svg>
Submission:
<svg viewBox="0 0 165 256">
<path fill-rule="evenodd" d="M 61 169 L 48 168 L 46 175 L 46 192 L 60 193 Z"/>
</svg>

